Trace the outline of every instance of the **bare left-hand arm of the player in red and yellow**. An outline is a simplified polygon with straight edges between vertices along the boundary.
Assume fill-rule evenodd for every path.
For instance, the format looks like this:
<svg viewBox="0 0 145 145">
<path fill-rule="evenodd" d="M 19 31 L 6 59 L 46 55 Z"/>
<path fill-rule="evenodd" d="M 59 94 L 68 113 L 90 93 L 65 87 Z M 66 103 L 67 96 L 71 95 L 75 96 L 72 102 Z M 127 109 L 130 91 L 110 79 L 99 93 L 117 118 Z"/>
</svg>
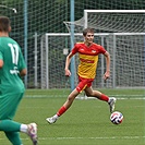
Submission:
<svg viewBox="0 0 145 145">
<path fill-rule="evenodd" d="M 71 75 L 71 72 L 70 72 L 70 70 L 69 70 L 69 65 L 70 65 L 70 63 L 71 63 L 71 58 L 72 58 L 73 56 L 74 56 L 74 55 L 73 55 L 72 52 L 70 52 L 70 53 L 68 55 L 67 59 L 65 59 L 65 69 L 64 69 L 64 71 L 65 71 L 65 76 L 70 76 L 70 75 Z"/>
</svg>

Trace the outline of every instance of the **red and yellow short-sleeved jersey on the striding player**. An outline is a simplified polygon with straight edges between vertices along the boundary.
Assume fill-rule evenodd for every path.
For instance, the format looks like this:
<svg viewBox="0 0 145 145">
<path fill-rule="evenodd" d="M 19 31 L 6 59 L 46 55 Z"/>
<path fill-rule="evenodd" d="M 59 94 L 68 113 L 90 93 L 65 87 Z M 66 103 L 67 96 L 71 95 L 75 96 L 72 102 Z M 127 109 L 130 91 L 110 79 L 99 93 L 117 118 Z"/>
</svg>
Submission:
<svg viewBox="0 0 145 145">
<path fill-rule="evenodd" d="M 95 78 L 98 55 L 105 53 L 105 48 L 97 44 L 87 47 L 84 43 L 77 43 L 72 49 L 73 55 L 76 52 L 78 52 L 80 59 L 77 74 L 84 78 Z"/>
</svg>

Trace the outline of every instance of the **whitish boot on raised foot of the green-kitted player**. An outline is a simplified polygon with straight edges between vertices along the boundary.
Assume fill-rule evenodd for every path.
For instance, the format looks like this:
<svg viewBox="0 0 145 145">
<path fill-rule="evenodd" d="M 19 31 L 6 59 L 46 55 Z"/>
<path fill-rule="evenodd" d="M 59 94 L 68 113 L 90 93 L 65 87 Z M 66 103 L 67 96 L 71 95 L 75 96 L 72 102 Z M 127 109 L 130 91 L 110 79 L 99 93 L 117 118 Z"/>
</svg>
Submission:
<svg viewBox="0 0 145 145">
<path fill-rule="evenodd" d="M 27 135 L 31 137 L 33 145 L 37 145 L 37 124 L 31 123 L 27 126 Z"/>
</svg>

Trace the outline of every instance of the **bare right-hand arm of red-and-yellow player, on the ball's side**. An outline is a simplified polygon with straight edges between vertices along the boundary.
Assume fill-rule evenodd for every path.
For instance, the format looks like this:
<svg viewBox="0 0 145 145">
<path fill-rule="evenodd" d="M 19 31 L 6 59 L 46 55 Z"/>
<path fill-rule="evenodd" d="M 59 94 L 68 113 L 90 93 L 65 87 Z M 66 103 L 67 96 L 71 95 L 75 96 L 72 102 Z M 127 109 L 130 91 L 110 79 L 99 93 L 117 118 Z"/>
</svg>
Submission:
<svg viewBox="0 0 145 145">
<path fill-rule="evenodd" d="M 106 51 L 104 55 L 106 57 L 106 73 L 104 75 L 104 80 L 107 80 L 110 76 L 110 53 Z"/>
</svg>

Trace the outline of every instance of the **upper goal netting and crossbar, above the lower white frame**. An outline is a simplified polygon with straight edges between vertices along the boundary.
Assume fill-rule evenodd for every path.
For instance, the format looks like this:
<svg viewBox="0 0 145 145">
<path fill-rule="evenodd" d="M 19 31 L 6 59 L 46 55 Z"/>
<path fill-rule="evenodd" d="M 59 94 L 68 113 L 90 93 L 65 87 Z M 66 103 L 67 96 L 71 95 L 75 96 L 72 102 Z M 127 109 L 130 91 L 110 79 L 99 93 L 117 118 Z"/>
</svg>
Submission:
<svg viewBox="0 0 145 145">
<path fill-rule="evenodd" d="M 84 16 L 75 22 L 64 22 L 75 33 L 93 27 L 97 33 L 144 33 L 145 10 L 84 10 Z"/>
</svg>

